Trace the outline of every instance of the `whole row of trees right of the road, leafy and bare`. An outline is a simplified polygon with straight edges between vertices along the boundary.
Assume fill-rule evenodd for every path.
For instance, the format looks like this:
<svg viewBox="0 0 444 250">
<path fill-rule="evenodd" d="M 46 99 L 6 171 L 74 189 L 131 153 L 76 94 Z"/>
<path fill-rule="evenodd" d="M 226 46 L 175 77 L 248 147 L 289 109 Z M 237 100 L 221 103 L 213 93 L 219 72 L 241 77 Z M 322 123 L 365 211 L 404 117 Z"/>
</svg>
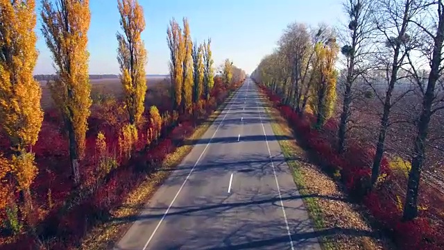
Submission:
<svg viewBox="0 0 444 250">
<path fill-rule="evenodd" d="M 341 100 L 337 151 L 345 150 L 354 102 L 368 97 L 367 89 L 382 107 L 379 135 L 375 144 L 371 187 L 377 183 L 384 154 L 390 116 L 396 103 L 415 93 L 418 113 L 411 154 L 407 195 L 403 217 L 418 215 L 418 188 L 425 161 L 425 149 L 432 116 L 443 109 L 443 1 L 346 0 L 348 24 L 333 31 L 325 25 L 310 29 L 305 24 L 290 24 L 279 41 L 279 48 L 266 56 L 253 77 L 271 85 L 283 102 L 303 115 L 314 112 L 321 127 L 332 115 L 336 93 Z M 342 45 L 341 74 L 334 67 Z M 377 78 L 378 76 L 379 78 Z M 382 77 L 380 77 L 382 76 Z M 340 85 L 336 88 L 336 80 Z M 375 81 L 386 83 L 383 92 Z M 397 86 L 402 91 L 395 92 Z M 408 87 L 408 88 L 407 88 Z M 373 95 L 373 94 L 372 94 Z"/>
</svg>

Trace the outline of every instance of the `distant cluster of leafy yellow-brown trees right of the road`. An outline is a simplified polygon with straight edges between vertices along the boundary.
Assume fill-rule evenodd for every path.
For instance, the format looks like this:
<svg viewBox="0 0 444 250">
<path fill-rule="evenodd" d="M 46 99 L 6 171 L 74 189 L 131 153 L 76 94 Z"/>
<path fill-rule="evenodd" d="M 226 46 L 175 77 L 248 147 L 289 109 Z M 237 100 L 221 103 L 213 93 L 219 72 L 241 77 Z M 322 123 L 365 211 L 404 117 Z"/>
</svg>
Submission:
<svg viewBox="0 0 444 250">
<path fill-rule="evenodd" d="M 252 77 L 271 83 L 284 104 L 301 115 L 314 112 L 316 126 L 321 127 L 332 116 L 336 101 L 339 47 L 332 28 L 293 23 L 278 43 L 279 49 L 261 61 Z"/>
</svg>

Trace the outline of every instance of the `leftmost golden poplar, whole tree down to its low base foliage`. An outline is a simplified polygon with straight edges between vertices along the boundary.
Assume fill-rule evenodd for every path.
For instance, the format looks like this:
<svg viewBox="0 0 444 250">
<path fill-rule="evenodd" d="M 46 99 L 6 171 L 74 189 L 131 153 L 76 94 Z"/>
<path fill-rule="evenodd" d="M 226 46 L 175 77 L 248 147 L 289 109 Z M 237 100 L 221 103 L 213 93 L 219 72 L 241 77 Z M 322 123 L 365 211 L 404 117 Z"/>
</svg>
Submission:
<svg viewBox="0 0 444 250">
<path fill-rule="evenodd" d="M 37 175 L 30 148 L 37 142 L 43 121 L 42 89 L 33 78 L 35 24 L 35 1 L 0 0 L 0 126 L 15 151 L 11 160 L 2 160 L 0 171 L 10 171 L 15 177 L 24 197 L 25 216 L 33 208 L 29 187 Z M 0 173 L 1 178 L 5 175 Z"/>
</svg>

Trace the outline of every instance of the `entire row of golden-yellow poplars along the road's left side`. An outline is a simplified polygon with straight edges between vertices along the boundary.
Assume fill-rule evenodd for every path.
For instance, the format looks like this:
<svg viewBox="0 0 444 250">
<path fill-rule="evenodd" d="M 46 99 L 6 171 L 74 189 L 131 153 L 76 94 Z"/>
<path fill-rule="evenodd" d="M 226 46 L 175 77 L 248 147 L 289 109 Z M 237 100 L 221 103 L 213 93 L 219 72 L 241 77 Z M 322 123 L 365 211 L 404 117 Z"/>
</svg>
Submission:
<svg viewBox="0 0 444 250">
<path fill-rule="evenodd" d="M 128 124 L 122 128 L 119 144 L 125 149 L 123 153 L 128 154 L 132 145 L 127 144 L 137 138 L 137 128 L 144 121 L 147 52 L 141 33 L 145 29 L 145 21 L 144 10 L 137 0 L 118 0 L 117 3 L 121 26 L 121 32 L 117 33 L 117 61 L 123 86 L 121 106 L 128 113 Z M 57 72 L 48 81 L 48 86 L 69 139 L 72 176 L 78 185 L 79 160 L 85 154 L 87 119 L 92 106 L 87 51 L 91 16 L 89 1 L 42 0 L 40 16 L 42 34 Z M 0 128 L 12 146 L 11 151 L 5 149 L 0 155 L 0 179 L 10 180 L 10 176 L 13 177 L 12 185 L 0 186 L 0 207 L 7 208 L 8 199 L 13 199 L 10 195 L 12 188 L 17 187 L 22 193 L 24 215 L 33 208 L 30 186 L 37 176 L 37 167 L 32 147 L 37 142 L 44 117 L 39 105 L 42 89 L 33 78 L 38 55 L 34 31 L 36 21 L 35 1 L 0 1 Z M 168 45 L 171 49 L 175 109 L 189 112 L 192 103 L 197 103 L 200 97 L 210 99 L 214 69 L 211 40 L 200 45 L 193 44 L 187 19 L 183 21 L 183 33 L 174 19 L 171 21 Z M 231 81 L 231 69 L 225 69 L 228 81 Z M 147 140 L 155 141 L 160 135 L 162 117 L 155 107 L 151 107 L 150 116 L 148 122 L 152 126 Z M 99 149 L 104 150 L 105 135 L 99 133 L 97 140 L 101 145 Z"/>
</svg>

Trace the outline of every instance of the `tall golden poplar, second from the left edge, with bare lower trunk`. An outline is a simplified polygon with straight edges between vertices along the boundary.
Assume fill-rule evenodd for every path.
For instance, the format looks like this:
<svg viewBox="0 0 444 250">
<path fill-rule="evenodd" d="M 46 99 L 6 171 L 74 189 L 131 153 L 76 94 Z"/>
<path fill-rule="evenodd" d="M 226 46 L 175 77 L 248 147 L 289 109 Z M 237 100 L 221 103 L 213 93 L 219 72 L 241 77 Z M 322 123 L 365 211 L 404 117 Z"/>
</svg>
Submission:
<svg viewBox="0 0 444 250">
<path fill-rule="evenodd" d="M 91 13 L 88 0 L 42 1 L 42 33 L 53 55 L 58 76 L 49 89 L 60 109 L 69 138 L 74 183 L 80 183 L 78 160 L 85 151 L 87 118 L 91 107 L 87 33 Z"/>
</svg>

